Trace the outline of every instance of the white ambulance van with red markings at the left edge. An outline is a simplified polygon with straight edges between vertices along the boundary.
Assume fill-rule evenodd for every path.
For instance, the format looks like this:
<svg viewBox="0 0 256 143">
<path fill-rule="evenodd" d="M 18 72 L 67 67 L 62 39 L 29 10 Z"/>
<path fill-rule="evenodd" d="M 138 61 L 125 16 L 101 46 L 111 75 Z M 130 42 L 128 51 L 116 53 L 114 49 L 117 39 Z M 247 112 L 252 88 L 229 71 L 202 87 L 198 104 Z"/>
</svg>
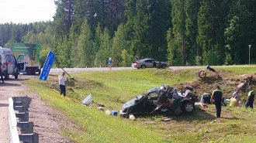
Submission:
<svg viewBox="0 0 256 143">
<path fill-rule="evenodd" d="M 11 49 L 2 48 L 2 46 L 0 46 L 0 58 L 2 60 L 2 73 L 5 80 L 9 79 L 9 75 L 12 75 L 15 79 L 18 79 L 18 65 Z"/>
</svg>

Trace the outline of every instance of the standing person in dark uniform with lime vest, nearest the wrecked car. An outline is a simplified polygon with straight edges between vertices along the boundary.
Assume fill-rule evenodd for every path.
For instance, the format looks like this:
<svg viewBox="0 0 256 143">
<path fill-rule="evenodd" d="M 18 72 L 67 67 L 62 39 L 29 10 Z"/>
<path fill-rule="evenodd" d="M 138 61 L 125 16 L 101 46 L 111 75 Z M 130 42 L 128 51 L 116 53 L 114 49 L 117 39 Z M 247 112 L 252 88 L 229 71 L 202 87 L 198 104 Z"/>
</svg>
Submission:
<svg viewBox="0 0 256 143">
<path fill-rule="evenodd" d="M 213 99 L 215 101 L 215 108 L 216 108 L 216 118 L 220 117 L 221 113 L 221 105 L 222 105 L 222 90 L 220 90 L 220 86 L 216 85 L 216 90 L 213 90 L 213 94 L 211 97 L 211 103 L 213 104 Z"/>
</svg>

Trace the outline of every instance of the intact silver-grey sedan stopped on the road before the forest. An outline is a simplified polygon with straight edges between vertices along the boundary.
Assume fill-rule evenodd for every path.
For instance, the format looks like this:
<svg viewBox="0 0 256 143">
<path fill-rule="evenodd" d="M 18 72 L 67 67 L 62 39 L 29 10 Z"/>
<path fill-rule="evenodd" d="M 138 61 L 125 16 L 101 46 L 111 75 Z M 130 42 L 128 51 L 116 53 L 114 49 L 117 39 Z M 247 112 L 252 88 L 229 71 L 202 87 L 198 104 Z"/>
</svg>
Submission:
<svg viewBox="0 0 256 143">
<path fill-rule="evenodd" d="M 154 63 L 155 67 L 157 68 L 165 69 L 168 66 L 168 63 L 160 62 L 150 58 L 137 60 L 132 63 L 132 66 L 137 69 L 154 68 Z"/>
</svg>

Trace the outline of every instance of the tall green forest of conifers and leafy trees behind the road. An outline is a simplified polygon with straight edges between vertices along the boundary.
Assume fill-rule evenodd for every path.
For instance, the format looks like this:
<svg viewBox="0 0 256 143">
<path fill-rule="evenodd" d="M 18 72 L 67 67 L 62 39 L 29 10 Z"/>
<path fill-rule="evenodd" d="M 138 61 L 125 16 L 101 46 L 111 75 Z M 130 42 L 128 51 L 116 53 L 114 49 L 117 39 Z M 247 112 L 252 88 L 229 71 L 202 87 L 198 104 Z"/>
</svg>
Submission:
<svg viewBox="0 0 256 143">
<path fill-rule="evenodd" d="M 38 43 L 62 67 L 256 63 L 255 0 L 56 0 L 54 20 L 0 24 L 0 46 Z M 47 10 L 47 9 L 46 9 Z M 249 46 L 251 45 L 251 47 Z M 251 61 L 250 61 L 251 60 Z"/>
</svg>

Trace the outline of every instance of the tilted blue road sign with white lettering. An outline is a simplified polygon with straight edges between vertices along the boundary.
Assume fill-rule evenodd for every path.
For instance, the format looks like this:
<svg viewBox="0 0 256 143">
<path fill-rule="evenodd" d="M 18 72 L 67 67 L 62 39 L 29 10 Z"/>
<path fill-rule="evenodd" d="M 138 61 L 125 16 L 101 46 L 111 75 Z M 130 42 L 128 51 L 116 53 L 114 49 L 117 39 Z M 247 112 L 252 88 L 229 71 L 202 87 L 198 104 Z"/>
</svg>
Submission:
<svg viewBox="0 0 256 143">
<path fill-rule="evenodd" d="M 49 52 L 47 56 L 47 60 L 45 60 L 45 63 L 43 65 L 43 70 L 41 71 L 39 80 L 47 80 L 47 77 L 50 73 L 50 67 L 54 63 L 55 54 L 53 52 Z"/>
</svg>

